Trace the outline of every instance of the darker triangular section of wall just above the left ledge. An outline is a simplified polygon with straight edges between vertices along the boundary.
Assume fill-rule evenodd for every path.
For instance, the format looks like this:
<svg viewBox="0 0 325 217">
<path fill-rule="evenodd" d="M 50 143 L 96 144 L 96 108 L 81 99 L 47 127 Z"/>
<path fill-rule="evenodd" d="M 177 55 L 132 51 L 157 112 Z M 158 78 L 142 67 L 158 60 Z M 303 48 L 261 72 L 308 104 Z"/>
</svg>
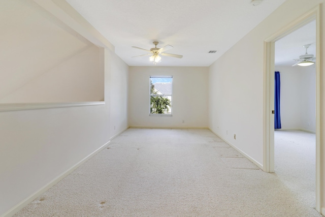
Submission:
<svg viewBox="0 0 325 217">
<path fill-rule="evenodd" d="M 104 72 L 100 70 L 100 55 L 103 54 L 98 47 L 89 46 L 63 63 L 32 78 L 1 99 L 0 103 L 103 101 Z M 19 61 L 18 59 L 17 62 Z"/>
</svg>

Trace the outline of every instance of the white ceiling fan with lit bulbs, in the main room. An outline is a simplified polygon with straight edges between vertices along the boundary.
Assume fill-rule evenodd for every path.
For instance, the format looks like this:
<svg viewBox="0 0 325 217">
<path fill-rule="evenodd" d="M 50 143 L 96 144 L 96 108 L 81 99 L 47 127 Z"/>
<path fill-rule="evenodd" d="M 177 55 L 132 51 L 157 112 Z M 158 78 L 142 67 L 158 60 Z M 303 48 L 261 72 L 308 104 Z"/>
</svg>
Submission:
<svg viewBox="0 0 325 217">
<path fill-rule="evenodd" d="M 171 46 L 171 45 L 166 45 L 165 47 L 157 48 L 157 44 L 159 42 L 152 42 L 152 43 L 155 45 L 155 47 L 151 48 L 150 50 L 143 49 L 143 48 L 140 48 L 140 47 L 135 47 L 135 46 L 132 46 L 132 47 L 149 52 L 148 54 L 143 54 L 143 55 L 139 55 L 139 56 L 151 55 L 149 57 L 149 60 L 152 61 L 153 64 L 161 62 L 161 56 L 159 56 L 159 54 L 163 55 L 163 56 L 171 56 L 171 57 L 176 57 L 176 58 L 182 58 L 183 57 L 182 55 L 178 55 L 178 54 L 163 53 L 163 52 L 165 52 L 165 51 L 167 51 L 169 49 L 172 49 L 173 46 Z M 133 57 L 137 57 L 137 56 L 133 56 Z"/>
</svg>

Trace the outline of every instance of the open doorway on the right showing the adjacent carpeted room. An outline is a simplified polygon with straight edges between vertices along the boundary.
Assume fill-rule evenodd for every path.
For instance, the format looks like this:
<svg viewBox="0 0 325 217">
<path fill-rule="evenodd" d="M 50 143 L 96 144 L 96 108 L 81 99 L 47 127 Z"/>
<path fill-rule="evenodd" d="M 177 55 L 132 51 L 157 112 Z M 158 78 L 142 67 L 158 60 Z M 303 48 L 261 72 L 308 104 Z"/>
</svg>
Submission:
<svg viewBox="0 0 325 217">
<path fill-rule="evenodd" d="M 316 20 L 275 42 L 282 127 L 274 132 L 274 164 L 287 188 L 302 203 L 315 207 L 316 68 L 297 66 L 299 61 L 293 60 L 307 52 L 310 56 L 316 52 Z"/>
</svg>

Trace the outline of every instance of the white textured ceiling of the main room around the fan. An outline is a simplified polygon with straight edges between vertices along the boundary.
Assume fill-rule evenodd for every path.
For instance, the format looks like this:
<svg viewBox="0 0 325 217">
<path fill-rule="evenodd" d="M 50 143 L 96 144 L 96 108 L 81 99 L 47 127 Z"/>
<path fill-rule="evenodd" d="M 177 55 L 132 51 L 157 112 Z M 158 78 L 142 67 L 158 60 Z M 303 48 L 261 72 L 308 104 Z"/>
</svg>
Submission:
<svg viewBox="0 0 325 217">
<path fill-rule="evenodd" d="M 129 66 L 152 66 L 145 49 L 172 45 L 159 66 L 210 66 L 285 0 L 67 0 Z M 216 53 L 208 53 L 217 50 Z"/>
</svg>

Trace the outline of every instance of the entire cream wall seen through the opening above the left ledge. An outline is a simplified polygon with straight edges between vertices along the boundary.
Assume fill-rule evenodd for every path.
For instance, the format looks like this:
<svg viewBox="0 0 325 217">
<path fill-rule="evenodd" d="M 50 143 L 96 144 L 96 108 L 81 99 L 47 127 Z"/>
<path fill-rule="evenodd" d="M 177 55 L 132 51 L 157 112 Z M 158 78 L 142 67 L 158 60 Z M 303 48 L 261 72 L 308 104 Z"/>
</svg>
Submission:
<svg viewBox="0 0 325 217">
<path fill-rule="evenodd" d="M 0 2 L 0 103 L 103 101 L 101 49 L 31 0 Z"/>
</svg>

